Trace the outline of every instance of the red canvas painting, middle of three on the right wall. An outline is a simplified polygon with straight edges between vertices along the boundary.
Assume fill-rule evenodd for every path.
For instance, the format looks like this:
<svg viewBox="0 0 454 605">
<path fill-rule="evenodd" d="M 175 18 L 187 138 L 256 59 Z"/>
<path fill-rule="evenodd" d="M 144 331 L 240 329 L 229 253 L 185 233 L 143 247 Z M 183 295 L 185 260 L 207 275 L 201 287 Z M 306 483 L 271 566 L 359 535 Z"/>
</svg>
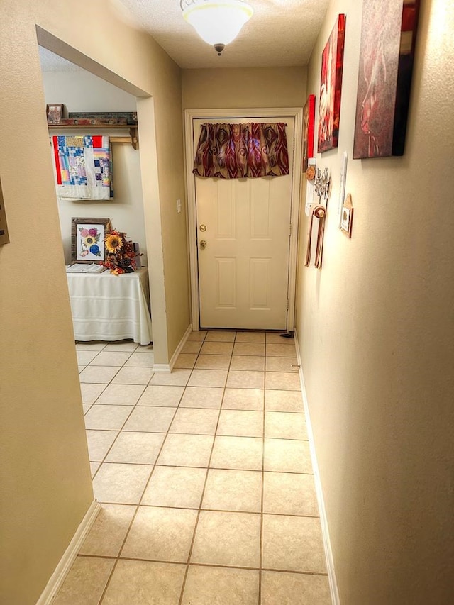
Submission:
<svg viewBox="0 0 454 605">
<path fill-rule="evenodd" d="M 321 55 L 319 153 L 338 146 L 344 40 L 345 15 L 339 15 Z"/>
</svg>

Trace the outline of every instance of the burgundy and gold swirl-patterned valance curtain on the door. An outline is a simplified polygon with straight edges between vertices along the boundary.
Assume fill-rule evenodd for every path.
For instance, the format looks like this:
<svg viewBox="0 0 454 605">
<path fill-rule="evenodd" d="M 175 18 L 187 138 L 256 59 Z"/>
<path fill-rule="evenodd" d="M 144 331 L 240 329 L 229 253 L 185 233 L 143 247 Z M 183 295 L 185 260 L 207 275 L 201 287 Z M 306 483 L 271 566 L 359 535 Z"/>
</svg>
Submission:
<svg viewBox="0 0 454 605">
<path fill-rule="evenodd" d="M 218 179 L 280 177 L 289 174 L 282 122 L 201 126 L 194 174 Z"/>
</svg>

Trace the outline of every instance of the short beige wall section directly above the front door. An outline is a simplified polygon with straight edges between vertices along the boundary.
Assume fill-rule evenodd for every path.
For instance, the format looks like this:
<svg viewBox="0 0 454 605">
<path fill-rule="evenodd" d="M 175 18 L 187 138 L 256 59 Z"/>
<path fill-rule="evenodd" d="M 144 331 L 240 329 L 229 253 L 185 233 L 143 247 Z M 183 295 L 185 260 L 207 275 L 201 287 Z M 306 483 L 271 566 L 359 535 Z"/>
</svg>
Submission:
<svg viewBox="0 0 454 605">
<path fill-rule="evenodd" d="M 301 107 L 305 67 L 183 70 L 183 109 Z"/>
</svg>

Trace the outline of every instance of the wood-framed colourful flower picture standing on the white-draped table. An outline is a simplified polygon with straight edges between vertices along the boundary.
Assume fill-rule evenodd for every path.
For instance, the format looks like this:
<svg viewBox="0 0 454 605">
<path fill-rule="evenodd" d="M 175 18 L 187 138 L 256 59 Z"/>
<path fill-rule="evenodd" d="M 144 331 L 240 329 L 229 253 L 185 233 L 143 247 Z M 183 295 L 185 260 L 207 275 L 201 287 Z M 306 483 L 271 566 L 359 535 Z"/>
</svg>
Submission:
<svg viewBox="0 0 454 605">
<path fill-rule="evenodd" d="M 110 226 L 110 218 L 72 218 L 71 261 L 104 261 L 106 258 L 104 238 Z"/>
</svg>

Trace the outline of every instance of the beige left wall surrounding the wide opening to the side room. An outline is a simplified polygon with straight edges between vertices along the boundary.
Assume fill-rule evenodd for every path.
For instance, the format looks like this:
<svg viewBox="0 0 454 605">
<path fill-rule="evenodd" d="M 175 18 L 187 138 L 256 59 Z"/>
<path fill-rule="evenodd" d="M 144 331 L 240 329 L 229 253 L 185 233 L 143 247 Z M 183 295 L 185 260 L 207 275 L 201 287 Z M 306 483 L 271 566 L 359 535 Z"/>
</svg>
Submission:
<svg viewBox="0 0 454 605">
<path fill-rule="evenodd" d="M 51 50 L 63 40 L 66 58 L 143 95 L 158 362 L 167 362 L 189 323 L 184 213 L 173 211 L 184 194 L 180 72 L 117 9 L 106 0 L 81 0 L 77 11 L 50 0 L 0 4 L 0 178 L 11 240 L 0 248 L 2 603 L 35 604 L 92 501 L 64 258 L 54 245 L 60 226 L 36 23 Z"/>
</svg>

